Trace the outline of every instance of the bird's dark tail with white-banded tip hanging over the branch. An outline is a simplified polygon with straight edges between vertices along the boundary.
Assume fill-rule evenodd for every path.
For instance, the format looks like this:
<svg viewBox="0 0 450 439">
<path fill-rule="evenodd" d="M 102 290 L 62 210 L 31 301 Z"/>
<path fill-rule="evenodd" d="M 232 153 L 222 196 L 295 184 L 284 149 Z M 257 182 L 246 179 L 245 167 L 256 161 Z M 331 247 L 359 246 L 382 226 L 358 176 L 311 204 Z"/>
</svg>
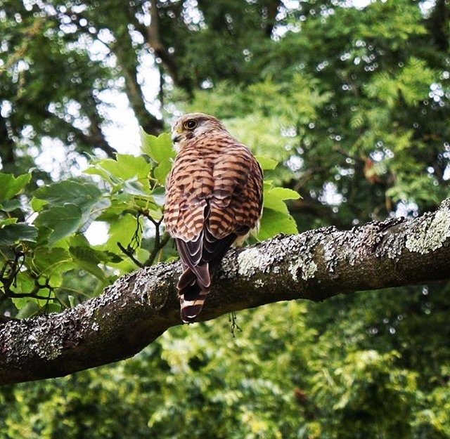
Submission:
<svg viewBox="0 0 450 439">
<path fill-rule="evenodd" d="M 198 273 L 194 273 L 191 268 L 185 268 L 176 285 L 180 299 L 181 320 L 185 323 L 193 322 L 200 314 L 210 292 L 208 264 L 196 268 Z"/>
</svg>

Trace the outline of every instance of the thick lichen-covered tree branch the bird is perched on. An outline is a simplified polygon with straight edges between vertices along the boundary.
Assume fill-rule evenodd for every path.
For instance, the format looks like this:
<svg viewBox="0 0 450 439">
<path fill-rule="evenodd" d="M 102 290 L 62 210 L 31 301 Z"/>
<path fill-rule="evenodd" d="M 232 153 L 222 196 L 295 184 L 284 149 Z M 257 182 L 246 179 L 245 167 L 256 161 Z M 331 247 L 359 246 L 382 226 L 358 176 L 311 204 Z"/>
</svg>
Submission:
<svg viewBox="0 0 450 439">
<path fill-rule="evenodd" d="M 60 314 L 0 325 L 0 384 L 63 376 L 128 358 L 180 325 L 179 263 L 126 275 Z M 450 279 L 450 199 L 419 218 L 333 227 L 232 249 L 199 320 L 275 301 Z M 192 328 L 195 331 L 195 327 Z"/>
</svg>

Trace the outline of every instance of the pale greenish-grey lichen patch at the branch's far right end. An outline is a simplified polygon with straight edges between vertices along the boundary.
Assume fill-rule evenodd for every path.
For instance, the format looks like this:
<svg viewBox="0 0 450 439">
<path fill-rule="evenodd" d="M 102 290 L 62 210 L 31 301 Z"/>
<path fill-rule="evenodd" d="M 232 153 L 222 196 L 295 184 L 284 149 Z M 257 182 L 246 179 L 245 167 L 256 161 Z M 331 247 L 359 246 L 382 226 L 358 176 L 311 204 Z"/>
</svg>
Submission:
<svg viewBox="0 0 450 439">
<path fill-rule="evenodd" d="M 423 216 L 422 221 L 406 238 L 406 248 L 411 252 L 427 254 L 442 247 L 450 238 L 450 212 L 438 210 L 430 216 Z"/>
</svg>

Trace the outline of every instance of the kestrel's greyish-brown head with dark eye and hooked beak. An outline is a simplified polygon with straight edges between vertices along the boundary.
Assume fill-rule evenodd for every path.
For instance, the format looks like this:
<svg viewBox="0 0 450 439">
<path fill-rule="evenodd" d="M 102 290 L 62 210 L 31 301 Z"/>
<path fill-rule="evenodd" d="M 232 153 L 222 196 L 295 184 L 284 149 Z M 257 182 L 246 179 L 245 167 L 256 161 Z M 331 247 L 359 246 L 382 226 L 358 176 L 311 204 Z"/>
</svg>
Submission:
<svg viewBox="0 0 450 439">
<path fill-rule="evenodd" d="M 172 141 L 176 150 L 184 148 L 190 140 L 211 131 L 224 131 L 224 125 L 214 116 L 203 113 L 184 114 L 172 126 Z"/>
</svg>

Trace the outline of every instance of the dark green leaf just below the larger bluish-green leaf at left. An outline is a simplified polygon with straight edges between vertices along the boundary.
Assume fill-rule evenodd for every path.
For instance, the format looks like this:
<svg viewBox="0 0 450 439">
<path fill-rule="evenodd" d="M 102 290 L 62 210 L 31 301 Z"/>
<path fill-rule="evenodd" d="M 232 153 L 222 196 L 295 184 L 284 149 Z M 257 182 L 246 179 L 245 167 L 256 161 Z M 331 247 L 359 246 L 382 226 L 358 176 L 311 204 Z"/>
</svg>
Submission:
<svg viewBox="0 0 450 439">
<path fill-rule="evenodd" d="M 52 230 L 48 240 L 54 244 L 63 237 L 72 235 L 84 223 L 82 210 L 75 204 L 55 206 L 41 212 L 34 221 L 38 228 L 44 227 Z"/>
</svg>

